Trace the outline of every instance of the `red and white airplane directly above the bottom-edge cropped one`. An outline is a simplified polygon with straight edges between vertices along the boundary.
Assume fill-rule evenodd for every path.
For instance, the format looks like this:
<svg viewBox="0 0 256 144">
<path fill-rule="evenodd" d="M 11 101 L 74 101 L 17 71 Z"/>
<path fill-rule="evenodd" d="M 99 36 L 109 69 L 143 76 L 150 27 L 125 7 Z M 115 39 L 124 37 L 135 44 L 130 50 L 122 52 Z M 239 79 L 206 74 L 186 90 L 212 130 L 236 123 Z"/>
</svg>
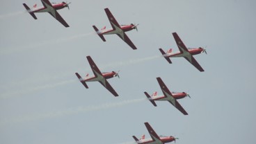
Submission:
<svg viewBox="0 0 256 144">
<path fill-rule="evenodd" d="M 157 96 L 157 92 L 154 92 L 152 96 L 150 96 L 146 91 L 144 92 L 145 95 L 147 96 L 147 99 L 150 100 L 152 105 L 154 107 L 157 107 L 155 100 L 157 101 L 168 101 L 170 104 L 172 104 L 174 107 L 176 107 L 179 111 L 182 112 L 184 115 L 188 115 L 186 113 L 185 109 L 181 105 L 179 105 L 179 102 L 177 101 L 178 99 L 185 98 L 186 96 L 189 96 L 189 93 L 171 93 L 169 89 L 166 87 L 166 84 L 163 83 L 163 80 L 161 78 L 157 78 L 157 81 L 159 83 L 159 86 L 161 87 L 161 90 L 163 91 L 163 96 Z M 189 96 L 190 98 L 190 96 Z"/>
</svg>

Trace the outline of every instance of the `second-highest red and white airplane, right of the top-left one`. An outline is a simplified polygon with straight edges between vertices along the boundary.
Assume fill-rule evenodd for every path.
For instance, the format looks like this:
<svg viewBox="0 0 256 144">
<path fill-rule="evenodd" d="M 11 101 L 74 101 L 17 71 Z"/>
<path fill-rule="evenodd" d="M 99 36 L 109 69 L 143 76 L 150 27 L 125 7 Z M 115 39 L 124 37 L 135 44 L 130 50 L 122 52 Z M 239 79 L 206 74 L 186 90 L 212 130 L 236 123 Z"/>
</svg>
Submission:
<svg viewBox="0 0 256 144">
<path fill-rule="evenodd" d="M 134 46 L 134 44 L 131 42 L 129 37 L 125 34 L 125 32 L 127 32 L 129 30 L 133 30 L 133 29 L 136 29 L 138 31 L 138 29 L 137 29 L 138 24 L 119 25 L 118 21 L 115 20 L 115 17 L 113 17 L 111 12 L 109 11 L 109 8 L 105 8 L 104 10 L 106 12 L 106 15 L 109 18 L 110 24 L 111 24 L 113 29 L 106 30 L 106 26 L 104 26 L 104 28 L 102 28 L 101 30 L 98 30 L 98 28 L 96 28 L 96 26 L 93 26 L 93 28 L 95 29 L 97 35 L 99 35 L 99 37 L 102 38 L 102 40 L 104 42 L 106 42 L 106 39 L 104 38 L 103 35 L 113 35 L 113 34 L 116 34 L 123 41 L 125 41 L 129 46 L 131 46 L 131 48 L 133 48 L 134 50 L 137 49 L 136 46 Z"/>
</svg>

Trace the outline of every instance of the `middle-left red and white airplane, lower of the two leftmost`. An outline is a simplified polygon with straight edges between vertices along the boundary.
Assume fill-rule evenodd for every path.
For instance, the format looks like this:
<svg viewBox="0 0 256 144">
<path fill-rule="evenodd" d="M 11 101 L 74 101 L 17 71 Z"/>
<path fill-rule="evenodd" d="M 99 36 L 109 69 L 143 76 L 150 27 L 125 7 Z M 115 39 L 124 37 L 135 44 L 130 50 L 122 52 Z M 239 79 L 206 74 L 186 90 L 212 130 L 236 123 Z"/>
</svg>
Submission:
<svg viewBox="0 0 256 144">
<path fill-rule="evenodd" d="M 90 56 L 87 56 L 87 60 L 90 64 L 90 68 L 93 70 L 93 73 L 94 73 L 95 76 L 89 77 L 89 75 L 87 74 L 86 78 L 81 78 L 79 73 L 76 73 L 77 78 L 79 78 L 79 80 L 83 84 L 83 86 L 86 87 L 86 89 L 88 89 L 89 87 L 87 86 L 86 82 L 98 81 L 106 89 L 108 89 L 114 96 L 118 96 L 118 93 L 115 92 L 115 90 L 111 87 L 111 85 L 109 84 L 109 82 L 106 79 L 113 78 L 113 77 L 116 77 L 116 76 L 119 78 L 119 75 L 118 75 L 119 71 L 117 71 L 117 72 L 112 71 L 112 72 L 109 72 L 109 73 L 102 73 L 101 71 L 99 71 L 95 62 L 93 62 L 93 59 Z"/>
</svg>

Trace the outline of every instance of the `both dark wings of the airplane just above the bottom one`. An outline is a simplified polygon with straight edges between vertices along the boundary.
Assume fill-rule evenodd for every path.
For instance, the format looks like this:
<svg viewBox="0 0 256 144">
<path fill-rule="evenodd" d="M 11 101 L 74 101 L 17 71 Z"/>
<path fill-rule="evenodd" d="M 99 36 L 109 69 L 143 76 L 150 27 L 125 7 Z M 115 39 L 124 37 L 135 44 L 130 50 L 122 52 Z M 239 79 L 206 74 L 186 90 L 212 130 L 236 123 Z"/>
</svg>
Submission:
<svg viewBox="0 0 256 144">
<path fill-rule="evenodd" d="M 182 114 L 184 115 L 188 115 L 186 113 L 186 111 L 183 109 L 183 107 L 181 105 L 179 105 L 179 102 L 173 98 L 172 93 L 169 91 L 169 89 L 166 87 L 166 84 L 163 83 L 163 80 L 161 80 L 161 78 L 157 78 L 157 81 L 161 87 L 161 90 L 163 91 L 163 95 L 166 98 L 170 98 L 170 100 L 168 100 L 168 102 L 170 102 L 174 107 L 176 107 L 179 111 L 182 112 Z"/>
</svg>

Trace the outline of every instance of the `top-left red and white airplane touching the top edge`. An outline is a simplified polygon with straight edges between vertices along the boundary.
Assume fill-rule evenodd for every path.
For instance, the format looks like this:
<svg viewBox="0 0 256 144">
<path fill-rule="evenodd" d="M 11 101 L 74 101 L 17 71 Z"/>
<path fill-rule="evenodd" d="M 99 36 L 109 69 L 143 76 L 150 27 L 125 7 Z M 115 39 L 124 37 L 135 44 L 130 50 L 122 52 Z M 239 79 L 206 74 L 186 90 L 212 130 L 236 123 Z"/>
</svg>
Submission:
<svg viewBox="0 0 256 144">
<path fill-rule="evenodd" d="M 34 19 L 38 19 L 37 17 L 35 17 L 35 14 L 34 14 L 35 12 L 48 12 L 52 17 L 60 21 L 61 24 L 63 24 L 63 26 L 70 27 L 68 26 L 66 21 L 61 17 L 61 15 L 58 14 L 57 12 L 57 10 L 60 10 L 65 7 L 70 9 L 70 7 L 68 6 L 70 3 L 67 3 L 64 1 L 62 3 L 51 3 L 48 0 L 41 0 L 41 1 L 42 1 L 43 7 L 37 7 L 37 5 L 35 4 L 33 8 L 29 8 L 29 6 L 27 6 L 26 3 L 23 3 L 23 6 L 26 8 L 26 10 Z"/>
</svg>

